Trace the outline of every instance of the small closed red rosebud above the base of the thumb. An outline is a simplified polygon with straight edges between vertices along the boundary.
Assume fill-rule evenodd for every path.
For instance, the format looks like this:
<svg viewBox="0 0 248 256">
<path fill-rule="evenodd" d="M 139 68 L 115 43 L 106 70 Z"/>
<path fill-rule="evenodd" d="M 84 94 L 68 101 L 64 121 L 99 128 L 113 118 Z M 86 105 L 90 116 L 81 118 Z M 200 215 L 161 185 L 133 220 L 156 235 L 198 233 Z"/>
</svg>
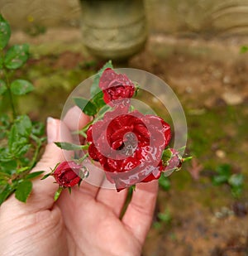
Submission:
<svg viewBox="0 0 248 256">
<path fill-rule="evenodd" d="M 78 175 L 81 168 L 81 166 L 73 161 L 61 162 L 58 167 L 56 167 L 53 176 L 60 186 L 75 186 L 81 181 L 81 178 Z"/>
</svg>

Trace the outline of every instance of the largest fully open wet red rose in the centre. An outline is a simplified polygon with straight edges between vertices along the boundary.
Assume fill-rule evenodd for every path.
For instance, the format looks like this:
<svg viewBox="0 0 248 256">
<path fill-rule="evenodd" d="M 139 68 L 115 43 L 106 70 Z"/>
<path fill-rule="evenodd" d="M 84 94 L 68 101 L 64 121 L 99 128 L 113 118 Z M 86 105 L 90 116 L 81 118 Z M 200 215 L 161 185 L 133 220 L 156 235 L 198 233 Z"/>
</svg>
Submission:
<svg viewBox="0 0 248 256">
<path fill-rule="evenodd" d="M 88 153 L 120 191 L 160 177 L 162 152 L 170 138 L 169 124 L 162 118 L 112 111 L 88 128 Z"/>
</svg>

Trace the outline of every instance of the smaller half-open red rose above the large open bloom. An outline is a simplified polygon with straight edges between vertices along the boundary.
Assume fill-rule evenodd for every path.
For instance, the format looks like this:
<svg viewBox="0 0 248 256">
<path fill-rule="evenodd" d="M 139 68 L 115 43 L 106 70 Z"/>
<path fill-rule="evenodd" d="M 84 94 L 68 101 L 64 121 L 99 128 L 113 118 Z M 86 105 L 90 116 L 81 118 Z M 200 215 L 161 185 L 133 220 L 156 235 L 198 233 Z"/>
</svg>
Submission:
<svg viewBox="0 0 248 256">
<path fill-rule="evenodd" d="M 112 69 L 103 71 L 99 81 L 99 87 L 103 89 L 103 99 L 106 104 L 113 105 L 112 101 L 131 98 L 135 92 L 135 86 L 124 74 L 117 74 Z M 117 103 L 115 103 L 117 104 Z"/>
</svg>

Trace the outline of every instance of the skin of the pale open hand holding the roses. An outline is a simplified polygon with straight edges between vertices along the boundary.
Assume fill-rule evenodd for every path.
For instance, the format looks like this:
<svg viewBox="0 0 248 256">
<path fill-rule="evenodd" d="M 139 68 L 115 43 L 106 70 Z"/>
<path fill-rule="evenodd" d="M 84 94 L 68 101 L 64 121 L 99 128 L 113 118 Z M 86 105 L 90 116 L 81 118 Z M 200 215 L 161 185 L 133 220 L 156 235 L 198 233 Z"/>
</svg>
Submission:
<svg viewBox="0 0 248 256">
<path fill-rule="evenodd" d="M 77 107 L 69 109 L 63 122 L 48 118 L 48 144 L 32 171 L 50 172 L 50 167 L 68 159 L 71 152 L 53 142 L 72 142 L 70 131 L 88 120 Z M 55 202 L 58 185 L 54 181 L 52 176 L 43 181 L 38 177 L 26 204 L 12 195 L 1 205 L 0 255 L 141 255 L 155 208 L 157 181 L 136 185 L 122 220 L 126 189 L 117 192 L 83 181 L 72 188 L 71 195 L 63 191 Z"/>
</svg>

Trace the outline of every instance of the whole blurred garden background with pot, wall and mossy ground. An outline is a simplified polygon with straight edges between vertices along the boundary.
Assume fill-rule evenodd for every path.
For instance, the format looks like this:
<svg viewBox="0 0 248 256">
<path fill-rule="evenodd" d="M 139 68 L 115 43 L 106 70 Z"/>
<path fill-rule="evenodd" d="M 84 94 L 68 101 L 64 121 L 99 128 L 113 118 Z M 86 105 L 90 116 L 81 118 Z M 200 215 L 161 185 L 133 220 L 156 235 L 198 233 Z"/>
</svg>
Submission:
<svg viewBox="0 0 248 256">
<path fill-rule="evenodd" d="M 17 104 L 34 120 L 60 118 L 69 93 L 108 59 L 178 95 L 193 160 L 160 179 L 144 256 L 248 255 L 247 0 L 0 0 L 0 12 L 10 45 L 30 45 L 17 76 L 36 90 Z"/>
</svg>

